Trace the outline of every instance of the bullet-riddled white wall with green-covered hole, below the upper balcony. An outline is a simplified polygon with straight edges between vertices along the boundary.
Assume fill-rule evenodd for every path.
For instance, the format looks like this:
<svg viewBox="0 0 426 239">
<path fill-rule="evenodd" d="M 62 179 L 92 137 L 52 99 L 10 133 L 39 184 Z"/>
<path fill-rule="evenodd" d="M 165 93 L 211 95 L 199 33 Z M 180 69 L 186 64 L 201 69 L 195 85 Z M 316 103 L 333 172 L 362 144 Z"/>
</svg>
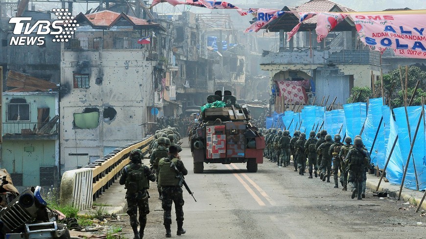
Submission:
<svg viewBox="0 0 426 239">
<path fill-rule="evenodd" d="M 145 49 L 62 50 L 61 160 L 65 171 L 140 139 L 153 104 Z M 151 65 L 152 64 L 152 65 Z"/>
</svg>

